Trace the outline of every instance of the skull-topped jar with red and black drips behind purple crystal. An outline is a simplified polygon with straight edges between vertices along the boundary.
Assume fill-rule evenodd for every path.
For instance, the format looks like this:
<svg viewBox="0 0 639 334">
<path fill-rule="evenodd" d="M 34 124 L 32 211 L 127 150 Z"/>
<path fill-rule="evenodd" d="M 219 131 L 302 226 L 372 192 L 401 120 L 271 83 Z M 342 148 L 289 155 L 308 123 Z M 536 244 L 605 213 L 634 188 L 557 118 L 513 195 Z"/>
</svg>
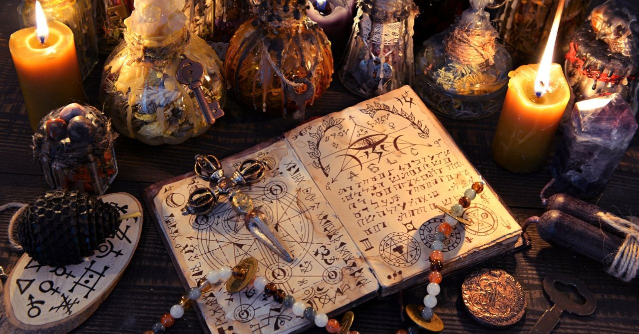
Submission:
<svg viewBox="0 0 639 334">
<path fill-rule="evenodd" d="M 589 20 L 574 34 L 566 54 L 566 79 L 573 89 L 574 101 L 601 93 L 618 93 L 630 103 L 633 114 L 637 100 L 639 6 L 611 0 L 597 6 Z M 566 109 L 564 118 L 570 110 Z"/>
</svg>

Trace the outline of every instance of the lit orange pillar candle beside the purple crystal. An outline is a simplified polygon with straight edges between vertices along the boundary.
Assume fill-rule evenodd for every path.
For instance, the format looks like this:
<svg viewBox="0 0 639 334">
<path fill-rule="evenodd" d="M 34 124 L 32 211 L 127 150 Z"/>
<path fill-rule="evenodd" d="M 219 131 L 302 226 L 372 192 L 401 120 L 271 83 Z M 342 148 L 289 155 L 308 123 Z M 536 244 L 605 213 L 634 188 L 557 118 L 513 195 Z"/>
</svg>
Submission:
<svg viewBox="0 0 639 334">
<path fill-rule="evenodd" d="M 493 139 L 493 158 L 511 172 L 534 172 L 543 167 L 548 148 L 570 98 L 560 65 L 550 67 L 550 87 L 541 97 L 534 81 L 539 64 L 511 71 L 502 114 Z"/>
</svg>

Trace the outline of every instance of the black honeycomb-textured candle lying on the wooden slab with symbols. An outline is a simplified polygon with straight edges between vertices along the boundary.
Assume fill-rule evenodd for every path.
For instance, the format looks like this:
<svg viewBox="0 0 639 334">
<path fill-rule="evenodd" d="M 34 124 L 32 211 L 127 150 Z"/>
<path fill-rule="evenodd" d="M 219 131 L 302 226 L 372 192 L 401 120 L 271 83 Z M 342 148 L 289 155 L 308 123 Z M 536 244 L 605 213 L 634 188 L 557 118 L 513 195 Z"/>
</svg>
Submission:
<svg viewBox="0 0 639 334">
<path fill-rule="evenodd" d="M 118 218 L 118 209 L 93 195 L 50 191 L 18 216 L 18 240 L 39 264 L 77 264 L 115 234 Z"/>
</svg>

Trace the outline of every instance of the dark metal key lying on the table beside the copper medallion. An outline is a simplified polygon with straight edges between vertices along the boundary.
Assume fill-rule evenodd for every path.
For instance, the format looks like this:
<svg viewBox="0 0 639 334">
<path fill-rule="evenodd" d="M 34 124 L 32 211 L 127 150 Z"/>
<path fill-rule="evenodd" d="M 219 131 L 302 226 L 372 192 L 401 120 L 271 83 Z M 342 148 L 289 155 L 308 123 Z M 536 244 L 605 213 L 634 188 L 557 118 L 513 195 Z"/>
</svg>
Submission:
<svg viewBox="0 0 639 334">
<path fill-rule="evenodd" d="M 580 294 L 586 302 L 580 304 L 571 300 L 568 296 L 566 296 L 566 294 L 557 290 L 555 282 L 573 285 L 573 287 L 577 289 L 578 294 Z M 595 298 L 595 295 L 592 294 L 581 280 L 571 275 L 548 275 L 544 278 L 544 291 L 546 291 L 548 296 L 550 296 L 550 300 L 553 301 L 555 305 L 553 305 L 550 310 L 544 312 L 541 319 L 539 319 L 532 330 L 530 330 L 530 333 L 550 333 L 550 331 L 557 326 L 557 323 L 559 323 L 563 312 L 576 315 L 590 315 L 592 312 L 595 312 L 595 308 L 597 308 L 597 299 Z"/>
</svg>

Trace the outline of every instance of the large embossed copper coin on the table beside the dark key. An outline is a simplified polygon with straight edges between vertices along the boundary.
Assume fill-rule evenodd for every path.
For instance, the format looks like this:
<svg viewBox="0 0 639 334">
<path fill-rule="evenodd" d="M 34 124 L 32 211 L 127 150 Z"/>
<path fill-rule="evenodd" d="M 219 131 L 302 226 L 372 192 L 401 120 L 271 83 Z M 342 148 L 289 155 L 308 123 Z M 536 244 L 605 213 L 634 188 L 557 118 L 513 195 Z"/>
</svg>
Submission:
<svg viewBox="0 0 639 334">
<path fill-rule="evenodd" d="M 512 326 L 526 312 L 521 285 L 500 269 L 479 269 L 461 284 L 461 296 L 477 323 L 492 328 Z"/>
</svg>

